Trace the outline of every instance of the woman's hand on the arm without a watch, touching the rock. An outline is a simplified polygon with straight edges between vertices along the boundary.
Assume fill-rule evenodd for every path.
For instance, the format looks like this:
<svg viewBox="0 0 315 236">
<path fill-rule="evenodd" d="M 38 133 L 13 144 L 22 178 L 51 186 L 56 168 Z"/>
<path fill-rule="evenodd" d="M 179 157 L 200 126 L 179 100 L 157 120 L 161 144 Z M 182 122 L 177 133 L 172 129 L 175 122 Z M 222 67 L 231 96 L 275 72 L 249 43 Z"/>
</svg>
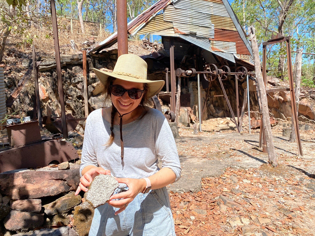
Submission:
<svg viewBox="0 0 315 236">
<path fill-rule="evenodd" d="M 85 168 L 88 168 L 88 170 L 85 170 Z M 95 176 L 99 174 L 111 174 L 110 170 L 105 170 L 102 167 L 93 166 L 89 168 L 89 166 L 87 166 L 85 168 L 82 170 L 84 174 L 80 178 L 79 186 L 77 187 L 77 191 L 74 194 L 75 196 L 77 196 L 81 190 L 84 192 L 88 191 L 87 187 L 90 186 L 90 183 L 95 178 Z"/>
</svg>

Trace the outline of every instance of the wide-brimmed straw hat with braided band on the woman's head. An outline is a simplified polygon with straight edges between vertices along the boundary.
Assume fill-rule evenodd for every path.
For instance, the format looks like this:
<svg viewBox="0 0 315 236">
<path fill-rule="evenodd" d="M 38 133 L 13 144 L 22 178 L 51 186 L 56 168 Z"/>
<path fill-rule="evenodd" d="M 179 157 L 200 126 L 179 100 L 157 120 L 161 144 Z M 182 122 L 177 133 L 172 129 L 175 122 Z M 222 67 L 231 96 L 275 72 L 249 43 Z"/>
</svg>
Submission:
<svg viewBox="0 0 315 236">
<path fill-rule="evenodd" d="M 146 78 L 147 64 L 137 55 L 123 54 L 118 57 L 113 72 L 93 68 L 97 78 L 105 85 L 109 76 L 135 83 L 146 83 L 149 86 L 148 97 L 153 97 L 163 88 L 164 80 L 148 80 Z"/>
</svg>

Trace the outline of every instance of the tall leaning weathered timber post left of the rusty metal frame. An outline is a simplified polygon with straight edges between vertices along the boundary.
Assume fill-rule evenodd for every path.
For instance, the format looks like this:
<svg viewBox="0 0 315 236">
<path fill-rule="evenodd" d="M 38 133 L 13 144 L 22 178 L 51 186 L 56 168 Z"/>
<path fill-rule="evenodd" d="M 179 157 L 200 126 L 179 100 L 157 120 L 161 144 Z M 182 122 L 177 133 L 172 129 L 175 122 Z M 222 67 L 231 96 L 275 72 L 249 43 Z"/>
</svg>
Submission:
<svg viewBox="0 0 315 236">
<path fill-rule="evenodd" d="M 262 78 L 261 73 L 261 64 L 259 58 L 259 50 L 255 35 L 255 28 L 254 26 L 250 27 L 250 41 L 254 55 L 254 62 L 255 62 L 255 73 L 256 73 L 256 86 L 259 89 L 259 95 L 261 97 L 261 109 L 262 109 L 262 120 L 263 120 L 263 129 L 265 130 L 266 135 L 266 143 L 267 143 L 267 151 L 268 151 L 268 160 L 272 167 L 277 167 L 278 162 L 274 150 L 273 140 L 272 140 L 272 132 L 271 132 L 271 125 L 269 120 L 269 109 L 268 109 L 268 102 L 267 102 L 267 95 L 266 95 L 266 88 L 264 84 L 264 79 Z"/>
</svg>

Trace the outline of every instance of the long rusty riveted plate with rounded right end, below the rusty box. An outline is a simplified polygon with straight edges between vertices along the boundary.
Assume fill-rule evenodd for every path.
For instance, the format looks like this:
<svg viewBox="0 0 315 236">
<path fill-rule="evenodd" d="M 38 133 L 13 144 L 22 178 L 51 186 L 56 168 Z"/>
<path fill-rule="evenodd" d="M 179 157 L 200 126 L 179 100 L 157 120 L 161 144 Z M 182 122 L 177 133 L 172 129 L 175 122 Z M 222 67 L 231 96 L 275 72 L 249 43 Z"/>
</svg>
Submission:
<svg viewBox="0 0 315 236">
<path fill-rule="evenodd" d="M 44 167 L 52 161 L 61 163 L 77 158 L 79 158 L 77 151 L 71 144 L 61 140 L 49 140 L 0 152 L 0 173 L 14 169 Z"/>
</svg>

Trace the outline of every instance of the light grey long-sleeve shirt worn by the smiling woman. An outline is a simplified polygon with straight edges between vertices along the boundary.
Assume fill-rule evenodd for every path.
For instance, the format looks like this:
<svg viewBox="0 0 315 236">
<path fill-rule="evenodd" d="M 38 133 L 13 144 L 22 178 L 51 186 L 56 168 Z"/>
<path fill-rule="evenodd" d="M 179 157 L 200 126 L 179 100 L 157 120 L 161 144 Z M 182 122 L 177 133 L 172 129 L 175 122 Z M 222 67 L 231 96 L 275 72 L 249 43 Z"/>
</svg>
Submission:
<svg viewBox="0 0 315 236">
<path fill-rule="evenodd" d="M 110 136 L 110 123 L 103 119 L 101 109 L 91 112 L 86 120 L 80 173 L 84 167 L 95 165 L 109 169 L 117 178 L 140 179 L 155 174 L 158 157 L 162 168 L 172 169 L 176 180 L 181 167 L 172 131 L 164 115 L 156 109 L 148 109 L 140 120 L 124 124 L 122 128 L 124 166 L 121 163 L 119 125 L 114 125 L 113 144 L 106 149 Z"/>
</svg>

